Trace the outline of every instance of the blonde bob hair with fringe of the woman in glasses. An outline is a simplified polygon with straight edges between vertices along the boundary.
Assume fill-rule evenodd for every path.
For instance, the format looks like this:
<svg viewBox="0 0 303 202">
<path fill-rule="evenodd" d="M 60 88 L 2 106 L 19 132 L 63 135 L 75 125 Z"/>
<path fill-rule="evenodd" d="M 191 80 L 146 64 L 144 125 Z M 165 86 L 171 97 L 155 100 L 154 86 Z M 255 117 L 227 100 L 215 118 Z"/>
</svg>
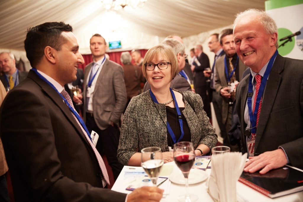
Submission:
<svg viewBox="0 0 303 202">
<path fill-rule="evenodd" d="M 166 56 L 168 62 L 171 63 L 171 80 L 175 78 L 175 76 L 178 74 L 179 72 L 178 60 L 173 49 L 168 45 L 159 44 L 150 48 L 144 56 L 143 64 L 142 64 L 142 72 L 146 80 L 147 80 L 147 75 L 146 75 L 147 70 L 144 64 L 150 63 L 154 59 L 157 60 L 161 56 L 163 57 Z"/>
</svg>

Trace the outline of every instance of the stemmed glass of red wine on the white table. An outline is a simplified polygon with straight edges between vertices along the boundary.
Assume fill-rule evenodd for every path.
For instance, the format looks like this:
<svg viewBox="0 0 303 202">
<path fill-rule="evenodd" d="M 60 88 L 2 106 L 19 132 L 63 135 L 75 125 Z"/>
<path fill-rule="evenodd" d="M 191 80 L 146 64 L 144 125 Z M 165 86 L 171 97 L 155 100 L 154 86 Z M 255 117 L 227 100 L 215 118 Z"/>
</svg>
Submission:
<svg viewBox="0 0 303 202">
<path fill-rule="evenodd" d="M 177 166 L 182 171 L 185 178 L 185 194 L 178 197 L 181 202 L 197 201 L 195 194 L 188 194 L 188 175 L 195 162 L 194 147 L 191 142 L 177 142 L 174 144 L 174 159 Z"/>
</svg>

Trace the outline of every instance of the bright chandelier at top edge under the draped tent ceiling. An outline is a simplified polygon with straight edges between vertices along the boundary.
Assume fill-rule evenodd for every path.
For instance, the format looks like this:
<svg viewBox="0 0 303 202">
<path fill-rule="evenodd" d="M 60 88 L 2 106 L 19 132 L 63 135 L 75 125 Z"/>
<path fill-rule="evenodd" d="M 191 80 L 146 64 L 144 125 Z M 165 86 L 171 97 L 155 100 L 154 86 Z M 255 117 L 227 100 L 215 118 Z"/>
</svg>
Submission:
<svg viewBox="0 0 303 202">
<path fill-rule="evenodd" d="M 125 6 L 132 8 L 142 7 L 147 0 L 102 0 L 104 7 L 107 10 L 119 10 Z"/>
</svg>

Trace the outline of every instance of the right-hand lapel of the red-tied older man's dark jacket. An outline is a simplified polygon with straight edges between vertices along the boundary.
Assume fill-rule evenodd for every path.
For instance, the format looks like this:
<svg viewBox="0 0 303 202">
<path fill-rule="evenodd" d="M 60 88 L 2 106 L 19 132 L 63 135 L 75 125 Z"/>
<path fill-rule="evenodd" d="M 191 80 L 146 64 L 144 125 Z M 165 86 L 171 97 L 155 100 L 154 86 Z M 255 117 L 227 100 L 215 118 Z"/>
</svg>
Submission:
<svg viewBox="0 0 303 202">
<path fill-rule="evenodd" d="M 276 95 L 281 83 L 280 73 L 284 69 L 285 58 L 280 55 L 277 55 L 275 62 L 272 66 L 271 72 L 268 77 L 268 81 L 265 87 L 266 93 L 263 93 L 262 97 L 262 106 L 260 111 L 260 117 L 258 121 L 258 128 L 256 132 L 256 141 L 255 141 L 255 151 L 258 148 L 259 142 L 265 130 L 268 117 L 271 112 L 271 108 L 275 102 Z"/>
</svg>

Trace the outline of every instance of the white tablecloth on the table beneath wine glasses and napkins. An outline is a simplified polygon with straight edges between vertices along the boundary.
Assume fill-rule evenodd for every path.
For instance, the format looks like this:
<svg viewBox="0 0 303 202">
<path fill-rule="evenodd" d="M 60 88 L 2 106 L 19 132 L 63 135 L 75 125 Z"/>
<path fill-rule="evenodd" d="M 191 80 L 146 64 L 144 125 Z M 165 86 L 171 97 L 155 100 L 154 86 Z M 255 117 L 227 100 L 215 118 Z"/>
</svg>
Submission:
<svg viewBox="0 0 303 202">
<path fill-rule="evenodd" d="M 179 170 L 179 168 L 176 166 L 175 162 L 170 162 L 170 163 L 167 163 L 164 165 L 173 165 L 174 170 L 175 169 Z M 125 174 L 124 169 L 127 167 L 129 167 L 129 166 L 124 166 L 118 179 L 116 180 L 115 184 L 113 185 L 112 190 L 126 193 L 126 194 L 131 193 L 131 191 L 125 190 L 125 188 L 127 187 L 127 184 L 125 184 L 125 182 L 123 182 L 124 174 Z M 136 169 L 133 171 L 143 171 L 143 168 L 136 167 Z M 208 176 L 209 176 L 211 173 L 211 169 L 207 169 L 206 172 L 208 173 Z M 228 171 L 226 171 L 226 172 L 228 173 Z M 168 176 L 165 176 L 165 177 L 168 177 Z M 209 194 L 207 193 L 206 182 L 207 182 L 207 180 L 205 180 L 201 183 L 198 183 L 198 184 L 189 185 L 189 193 L 196 194 L 199 197 L 198 201 L 204 201 L 204 202 L 213 201 L 211 199 L 211 197 L 209 196 Z M 171 183 L 169 181 L 169 179 L 166 180 L 163 184 L 161 184 L 159 186 L 159 188 L 164 189 L 165 187 L 169 187 L 168 183 Z M 177 197 L 184 193 L 185 193 L 185 185 L 171 183 L 169 194 L 165 195 L 165 197 L 162 198 L 161 202 L 178 201 Z M 300 202 L 300 201 L 302 201 L 303 202 L 303 191 L 271 199 L 271 198 L 266 197 L 265 195 L 259 193 L 258 191 L 255 191 L 254 189 L 242 184 L 241 182 L 237 182 L 237 194 L 242 199 L 241 201 L 245 201 L 245 202 L 248 202 L 248 201 L 251 201 L 251 202 L 252 201 L 257 201 L 257 202 L 266 202 L 266 201 L 268 201 L 268 202 Z"/>
</svg>

